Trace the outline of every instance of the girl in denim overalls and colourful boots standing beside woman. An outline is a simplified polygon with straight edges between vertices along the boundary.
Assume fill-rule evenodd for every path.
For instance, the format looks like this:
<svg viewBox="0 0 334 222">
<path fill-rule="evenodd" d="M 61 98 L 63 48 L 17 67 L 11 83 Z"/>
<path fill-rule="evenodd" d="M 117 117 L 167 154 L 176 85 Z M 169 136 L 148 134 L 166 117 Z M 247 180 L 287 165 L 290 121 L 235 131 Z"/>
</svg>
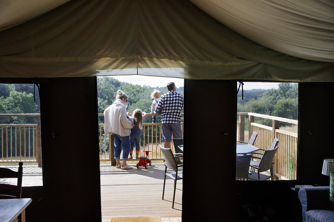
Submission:
<svg viewBox="0 0 334 222">
<path fill-rule="evenodd" d="M 129 113 L 128 113 L 129 114 Z M 143 119 L 147 116 L 145 112 L 142 112 L 140 109 L 135 109 L 133 111 L 132 117 L 129 117 L 129 120 L 135 124 L 134 127 L 130 128 L 130 156 L 128 159 L 132 159 L 133 147 L 136 144 L 136 159 L 139 159 L 140 151 L 140 133 L 143 129 Z"/>
</svg>

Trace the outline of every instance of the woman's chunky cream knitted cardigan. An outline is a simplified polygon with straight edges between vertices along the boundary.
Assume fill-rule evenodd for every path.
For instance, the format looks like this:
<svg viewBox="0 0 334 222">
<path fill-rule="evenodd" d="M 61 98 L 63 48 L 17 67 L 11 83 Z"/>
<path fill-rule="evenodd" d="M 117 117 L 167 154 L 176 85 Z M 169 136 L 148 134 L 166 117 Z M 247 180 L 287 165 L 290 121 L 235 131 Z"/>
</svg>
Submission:
<svg viewBox="0 0 334 222">
<path fill-rule="evenodd" d="M 131 122 L 126 118 L 127 105 L 123 100 L 116 99 L 105 111 L 105 132 L 120 136 L 130 136 Z"/>
</svg>

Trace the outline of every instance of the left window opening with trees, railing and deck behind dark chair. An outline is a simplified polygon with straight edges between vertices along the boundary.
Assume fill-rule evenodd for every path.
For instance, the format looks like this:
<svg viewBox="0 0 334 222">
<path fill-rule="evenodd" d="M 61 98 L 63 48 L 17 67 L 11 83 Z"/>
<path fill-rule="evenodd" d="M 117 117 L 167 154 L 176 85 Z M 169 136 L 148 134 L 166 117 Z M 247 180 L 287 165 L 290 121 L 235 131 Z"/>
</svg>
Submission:
<svg viewBox="0 0 334 222">
<path fill-rule="evenodd" d="M 22 161 L 22 186 L 42 186 L 40 103 L 36 85 L 0 84 L 0 132 L 0 166 L 17 171 Z M 6 178 L 5 183 L 16 185 L 17 179 Z"/>
</svg>

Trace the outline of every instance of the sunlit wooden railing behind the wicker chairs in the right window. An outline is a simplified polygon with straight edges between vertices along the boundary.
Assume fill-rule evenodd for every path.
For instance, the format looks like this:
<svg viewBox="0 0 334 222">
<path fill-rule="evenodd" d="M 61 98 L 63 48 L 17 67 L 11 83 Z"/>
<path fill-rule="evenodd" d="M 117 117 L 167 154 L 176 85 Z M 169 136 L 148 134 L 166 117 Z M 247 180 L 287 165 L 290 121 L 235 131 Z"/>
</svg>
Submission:
<svg viewBox="0 0 334 222">
<path fill-rule="evenodd" d="M 248 116 L 249 130 L 248 138 L 251 137 L 253 131 L 258 133 L 254 145 L 261 149 L 269 149 L 274 138 L 279 139 L 278 151 L 274 158 L 275 179 L 295 180 L 297 178 L 297 140 L 298 134 L 281 130 L 280 122 L 286 122 L 298 125 L 298 120 L 269 116 L 257 113 L 237 113 L 240 121 L 237 122 L 237 139 L 244 141 L 244 125 L 245 116 Z M 271 119 L 272 127 L 254 123 L 254 117 Z M 260 155 L 258 155 L 261 157 Z"/>
</svg>

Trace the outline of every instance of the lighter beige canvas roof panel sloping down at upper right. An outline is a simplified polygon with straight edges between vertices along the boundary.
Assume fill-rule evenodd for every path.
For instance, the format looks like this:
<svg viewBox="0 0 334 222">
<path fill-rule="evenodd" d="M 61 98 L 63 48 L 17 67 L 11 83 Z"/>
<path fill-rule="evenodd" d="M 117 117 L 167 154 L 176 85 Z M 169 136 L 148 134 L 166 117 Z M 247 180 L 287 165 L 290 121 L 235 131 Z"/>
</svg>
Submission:
<svg viewBox="0 0 334 222">
<path fill-rule="evenodd" d="M 333 0 L 190 0 L 242 36 L 276 51 L 334 62 Z"/>
</svg>

